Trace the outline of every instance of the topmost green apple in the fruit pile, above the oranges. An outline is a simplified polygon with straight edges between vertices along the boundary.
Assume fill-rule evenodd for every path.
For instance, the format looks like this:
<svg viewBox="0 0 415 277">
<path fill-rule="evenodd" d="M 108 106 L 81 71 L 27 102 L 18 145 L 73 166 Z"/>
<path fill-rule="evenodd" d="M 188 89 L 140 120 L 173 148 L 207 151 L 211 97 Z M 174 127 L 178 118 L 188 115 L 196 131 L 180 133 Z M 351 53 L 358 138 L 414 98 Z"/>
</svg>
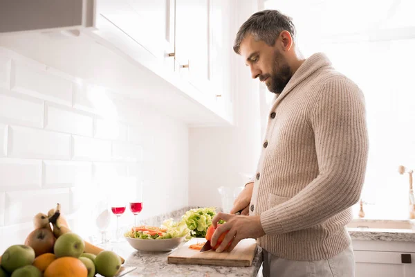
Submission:
<svg viewBox="0 0 415 277">
<path fill-rule="evenodd" d="M 79 258 L 84 252 L 85 242 L 75 233 L 64 233 L 55 242 L 53 251 L 57 258 L 74 257 Z"/>
</svg>

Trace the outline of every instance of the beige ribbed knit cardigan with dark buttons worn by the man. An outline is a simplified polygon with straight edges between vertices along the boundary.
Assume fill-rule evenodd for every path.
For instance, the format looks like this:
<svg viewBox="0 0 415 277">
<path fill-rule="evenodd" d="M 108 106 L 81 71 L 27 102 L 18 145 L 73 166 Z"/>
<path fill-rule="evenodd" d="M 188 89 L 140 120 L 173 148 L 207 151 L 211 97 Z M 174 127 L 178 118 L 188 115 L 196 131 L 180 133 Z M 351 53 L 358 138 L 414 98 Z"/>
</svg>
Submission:
<svg viewBox="0 0 415 277">
<path fill-rule="evenodd" d="M 345 225 L 360 199 L 367 163 L 365 100 L 317 53 L 295 71 L 270 113 L 250 215 L 259 246 L 289 260 L 322 260 L 351 243 Z"/>
</svg>

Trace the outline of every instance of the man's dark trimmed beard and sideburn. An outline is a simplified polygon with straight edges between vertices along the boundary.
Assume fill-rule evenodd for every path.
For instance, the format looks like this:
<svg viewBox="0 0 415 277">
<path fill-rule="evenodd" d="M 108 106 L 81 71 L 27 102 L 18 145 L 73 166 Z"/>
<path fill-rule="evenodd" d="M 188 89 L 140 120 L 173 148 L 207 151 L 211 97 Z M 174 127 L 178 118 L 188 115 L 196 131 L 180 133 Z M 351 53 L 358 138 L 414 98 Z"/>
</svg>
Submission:
<svg viewBox="0 0 415 277">
<path fill-rule="evenodd" d="M 288 84 L 288 81 L 291 79 L 292 74 L 290 66 L 278 50 L 275 51 L 273 67 L 274 70 L 277 70 L 277 72 L 273 72 L 270 76 L 268 76 L 270 80 L 266 83 L 266 86 L 270 92 L 282 93 L 284 87 L 286 87 L 286 84 Z M 266 78 L 267 76 L 264 77 Z"/>
</svg>

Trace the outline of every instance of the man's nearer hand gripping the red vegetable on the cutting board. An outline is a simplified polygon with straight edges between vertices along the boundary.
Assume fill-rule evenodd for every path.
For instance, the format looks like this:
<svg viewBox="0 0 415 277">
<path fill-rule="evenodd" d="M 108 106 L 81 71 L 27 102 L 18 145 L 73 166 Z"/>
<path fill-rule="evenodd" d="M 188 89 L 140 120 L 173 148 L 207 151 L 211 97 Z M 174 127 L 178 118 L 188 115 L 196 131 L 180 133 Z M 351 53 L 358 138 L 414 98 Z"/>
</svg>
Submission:
<svg viewBox="0 0 415 277">
<path fill-rule="evenodd" d="M 225 224 L 218 226 L 219 220 L 225 220 Z M 239 241 L 244 238 L 259 238 L 265 235 L 264 229 L 261 226 L 261 217 L 257 216 L 243 216 L 243 215 L 230 215 L 228 213 L 218 213 L 213 217 L 212 224 L 216 231 L 210 240 L 212 247 L 216 244 L 221 234 L 227 230 L 229 232 L 225 235 L 221 245 L 216 249 L 216 252 L 221 252 L 228 243 L 233 239 L 232 244 L 228 248 L 228 251 L 232 251 Z"/>
</svg>

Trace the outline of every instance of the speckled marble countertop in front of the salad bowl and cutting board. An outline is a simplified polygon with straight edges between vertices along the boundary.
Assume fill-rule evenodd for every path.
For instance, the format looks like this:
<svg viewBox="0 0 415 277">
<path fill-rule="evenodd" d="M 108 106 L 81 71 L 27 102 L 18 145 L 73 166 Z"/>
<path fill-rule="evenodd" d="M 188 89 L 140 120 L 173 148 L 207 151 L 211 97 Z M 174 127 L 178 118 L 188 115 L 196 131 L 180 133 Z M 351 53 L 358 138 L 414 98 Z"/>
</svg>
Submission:
<svg viewBox="0 0 415 277">
<path fill-rule="evenodd" d="M 108 247 L 106 247 L 108 249 Z M 136 251 L 127 242 L 111 244 L 111 250 L 116 251 L 125 259 L 124 267 L 136 267 L 126 277 L 255 277 L 262 264 L 262 249 L 257 248 L 252 266 L 250 267 L 218 267 L 212 265 L 174 265 L 167 263 L 167 256 L 172 252 Z"/>
</svg>

